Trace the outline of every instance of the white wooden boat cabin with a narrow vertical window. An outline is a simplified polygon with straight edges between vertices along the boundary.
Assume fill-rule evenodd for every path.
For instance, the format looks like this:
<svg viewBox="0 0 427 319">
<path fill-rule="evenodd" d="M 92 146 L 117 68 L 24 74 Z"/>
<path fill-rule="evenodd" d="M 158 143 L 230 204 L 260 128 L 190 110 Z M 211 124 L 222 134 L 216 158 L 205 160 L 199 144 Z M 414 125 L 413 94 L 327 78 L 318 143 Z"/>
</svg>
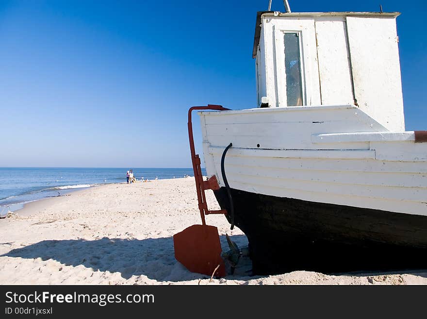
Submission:
<svg viewBox="0 0 427 319">
<path fill-rule="evenodd" d="M 390 131 L 405 131 L 398 15 L 259 12 L 258 106 L 352 104 Z"/>
</svg>

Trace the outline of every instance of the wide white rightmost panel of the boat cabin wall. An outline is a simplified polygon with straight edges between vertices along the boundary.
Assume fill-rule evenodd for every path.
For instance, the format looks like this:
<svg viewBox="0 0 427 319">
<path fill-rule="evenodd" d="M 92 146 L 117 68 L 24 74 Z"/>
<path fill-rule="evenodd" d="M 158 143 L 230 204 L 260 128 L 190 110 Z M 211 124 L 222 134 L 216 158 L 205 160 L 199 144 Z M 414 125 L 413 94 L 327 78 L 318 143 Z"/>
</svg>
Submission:
<svg viewBox="0 0 427 319">
<path fill-rule="evenodd" d="M 405 131 L 394 17 L 346 17 L 355 96 L 390 131 Z"/>
</svg>

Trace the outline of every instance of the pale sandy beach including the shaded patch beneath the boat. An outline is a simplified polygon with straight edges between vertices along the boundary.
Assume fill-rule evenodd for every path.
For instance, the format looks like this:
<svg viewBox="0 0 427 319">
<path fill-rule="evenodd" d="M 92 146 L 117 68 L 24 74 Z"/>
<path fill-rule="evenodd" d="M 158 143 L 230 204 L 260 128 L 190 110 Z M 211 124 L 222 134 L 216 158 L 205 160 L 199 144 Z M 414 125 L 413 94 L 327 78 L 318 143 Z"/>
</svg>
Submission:
<svg viewBox="0 0 427 319">
<path fill-rule="evenodd" d="M 219 209 L 212 191 L 210 209 Z M 208 216 L 247 245 L 224 216 Z M 27 204 L 0 220 L 0 284 L 11 285 L 426 285 L 427 270 L 326 275 L 294 271 L 251 276 L 249 257 L 233 275 L 210 280 L 174 257 L 172 236 L 200 224 L 194 178 L 110 184 Z"/>
</svg>

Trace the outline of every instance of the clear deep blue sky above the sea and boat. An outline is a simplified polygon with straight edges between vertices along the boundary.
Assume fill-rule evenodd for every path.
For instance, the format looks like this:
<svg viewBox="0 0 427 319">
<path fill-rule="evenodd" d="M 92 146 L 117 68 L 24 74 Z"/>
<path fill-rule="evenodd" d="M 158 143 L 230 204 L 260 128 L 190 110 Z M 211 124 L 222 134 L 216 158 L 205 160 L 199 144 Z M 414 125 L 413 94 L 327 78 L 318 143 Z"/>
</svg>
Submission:
<svg viewBox="0 0 427 319">
<path fill-rule="evenodd" d="M 405 123 L 426 130 L 426 1 L 290 0 L 399 11 Z M 0 1 L 0 167 L 191 167 L 187 110 L 256 106 L 245 1 Z M 281 0 L 272 10 L 284 11 Z M 197 151 L 200 126 L 195 118 Z"/>
</svg>

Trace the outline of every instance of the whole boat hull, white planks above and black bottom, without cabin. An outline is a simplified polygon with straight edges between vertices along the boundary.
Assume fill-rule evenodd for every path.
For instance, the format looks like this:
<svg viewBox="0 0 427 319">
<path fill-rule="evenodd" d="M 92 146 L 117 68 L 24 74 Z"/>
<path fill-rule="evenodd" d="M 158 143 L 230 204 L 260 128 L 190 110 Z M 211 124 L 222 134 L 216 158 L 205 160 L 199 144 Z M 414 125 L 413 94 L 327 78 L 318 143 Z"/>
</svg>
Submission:
<svg viewBox="0 0 427 319">
<path fill-rule="evenodd" d="M 200 121 L 207 175 L 230 212 L 227 177 L 254 273 L 427 267 L 419 133 L 391 132 L 354 105 L 201 112 Z"/>
</svg>

